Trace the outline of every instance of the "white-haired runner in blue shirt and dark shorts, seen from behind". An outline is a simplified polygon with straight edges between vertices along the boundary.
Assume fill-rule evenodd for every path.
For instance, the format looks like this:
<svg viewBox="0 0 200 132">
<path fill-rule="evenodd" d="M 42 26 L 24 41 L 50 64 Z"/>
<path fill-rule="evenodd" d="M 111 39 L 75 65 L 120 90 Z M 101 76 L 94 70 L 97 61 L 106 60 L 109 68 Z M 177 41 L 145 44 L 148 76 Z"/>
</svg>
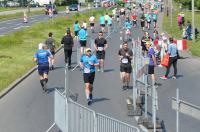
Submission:
<svg viewBox="0 0 200 132">
<path fill-rule="evenodd" d="M 40 75 L 40 84 L 42 89 L 47 92 L 47 82 L 49 73 L 49 61 L 48 58 L 52 57 L 48 50 L 44 49 L 44 44 L 40 43 L 38 45 L 39 50 L 35 53 L 34 61 L 38 65 L 38 73 Z"/>
</svg>

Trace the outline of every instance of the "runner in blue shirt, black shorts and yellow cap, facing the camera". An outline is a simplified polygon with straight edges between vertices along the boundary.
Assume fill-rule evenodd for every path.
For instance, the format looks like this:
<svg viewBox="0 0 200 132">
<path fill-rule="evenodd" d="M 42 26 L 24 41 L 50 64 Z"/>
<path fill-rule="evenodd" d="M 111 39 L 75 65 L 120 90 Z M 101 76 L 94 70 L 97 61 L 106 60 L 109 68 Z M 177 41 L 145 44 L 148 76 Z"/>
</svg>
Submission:
<svg viewBox="0 0 200 132">
<path fill-rule="evenodd" d="M 80 59 L 80 67 L 83 69 L 83 80 L 85 83 L 85 94 L 88 101 L 88 105 L 91 105 L 93 95 L 93 82 L 95 79 L 95 66 L 98 66 L 99 62 L 95 55 L 91 54 L 91 49 L 86 49 L 86 54 L 84 54 Z"/>
</svg>

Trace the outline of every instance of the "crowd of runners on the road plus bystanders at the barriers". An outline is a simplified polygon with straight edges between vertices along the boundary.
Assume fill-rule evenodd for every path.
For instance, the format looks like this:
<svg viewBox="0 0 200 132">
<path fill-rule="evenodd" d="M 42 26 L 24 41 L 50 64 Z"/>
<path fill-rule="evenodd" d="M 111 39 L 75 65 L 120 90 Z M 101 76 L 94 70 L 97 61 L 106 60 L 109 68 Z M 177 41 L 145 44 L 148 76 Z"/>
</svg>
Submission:
<svg viewBox="0 0 200 132">
<path fill-rule="evenodd" d="M 155 84 L 159 85 L 156 81 L 155 67 L 158 65 L 163 67 L 163 57 L 169 55 L 169 64 L 166 66 L 166 73 L 161 79 L 168 79 L 170 67 L 173 65 L 174 74 L 173 79 L 177 77 L 177 60 L 178 50 L 172 36 L 169 37 L 166 33 L 158 33 L 157 21 L 159 12 L 162 11 L 162 7 L 155 5 L 152 6 L 133 6 L 133 8 L 115 8 L 112 13 L 101 14 L 99 18 L 95 18 L 91 15 L 88 20 L 84 20 L 80 23 L 78 20 L 74 22 L 73 31 L 67 28 L 66 34 L 61 39 L 61 44 L 64 48 L 65 63 L 68 64 L 68 68 L 71 69 L 71 56 L 72 49 L 75 41 L 80 46 L 80 62 L 79 66 L 83 72 L 83 80 L 85 83 L 85 94 L 88 101 L 88 105 L 92 103 L 93 99 L 93 83 L 95 80 L 96 68 L 98 72 L 104 72 L 104 61 L 107 48 L 111 46 L 106 39 L 108 39 L 111 33 L 124 31 L 123 35 L 127 35 L 127 38 L 123 38 L 121 42 L 121 48 L 118 51 L 119 56 L 119 71 L 120 78 L 122 80 L 122 89 L 125 90 L 130 86 L 133 52 L 132 47 L 129 44 L 133 39 L 132 32 L 136 29 L 144 32 L 143 36 L 140 36 L 140 44 L 142 48 L 142 55 L 148 57 L 148 74 L 151 75 L 151 79 Z M 89 28 L 87 21 L 89 22 Z M 100 31 L 94 28 L 99 23 Z M 153 23 L 153 24 L 151 24 Z M 153 30 L 153 32 L 152 32 Z M 93 49 L 89 46 L 87 40 L 88 34 L 98 34 L 98 37 L 93 42 Z M 159 43 L 156 43 L 158 42 Z M 45 45 L 47 48 L 45 48 Z M 90 47 L 90 48 L 89 48 Z M 45 43 L 39 44 L 39 50 L 35 53 L 35 61 L 38 64 L 38 73 L 40 75 L 40 83 L 42 88 L 47 91 L 48 72 L 54 70 L 55 63 L 55 41 L 53 39 L 53 33 L 48 34 Z"/>
</svg>

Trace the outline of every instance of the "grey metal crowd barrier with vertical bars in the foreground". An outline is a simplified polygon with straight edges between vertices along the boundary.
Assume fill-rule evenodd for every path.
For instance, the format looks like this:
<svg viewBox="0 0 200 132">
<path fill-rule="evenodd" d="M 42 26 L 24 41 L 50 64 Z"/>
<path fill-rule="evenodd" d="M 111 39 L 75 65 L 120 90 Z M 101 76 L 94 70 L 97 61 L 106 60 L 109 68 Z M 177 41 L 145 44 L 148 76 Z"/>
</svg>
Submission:
<svg viewBox="0 0 200 132">
<path fill-rule="evenodd" d="M 140 132 L 135 126 L 96 113 L 66 98 L 58 90 L 55 90 L 54 98 L 55 123 L 52 127 L 57 125 L 62 132 Z"/>
</svg>

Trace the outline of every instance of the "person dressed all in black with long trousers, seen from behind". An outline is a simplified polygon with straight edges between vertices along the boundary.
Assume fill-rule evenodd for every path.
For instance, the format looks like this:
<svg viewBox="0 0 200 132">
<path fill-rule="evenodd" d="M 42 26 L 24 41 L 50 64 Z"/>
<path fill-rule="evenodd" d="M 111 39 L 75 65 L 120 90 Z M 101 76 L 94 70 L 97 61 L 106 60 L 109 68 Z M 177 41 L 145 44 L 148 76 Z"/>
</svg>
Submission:
<svg viewBox="0 0 200 132">
<path fill-rule="evenodd" d="M 68 63 L 68 68 L 70 69 L 72 48 L 74 46 L 74 41 L 73 41 L 73 37 L 71 36 L 70 30 L 67 30 L 67 34 L 62 38 L 61 44 L 64 47 L 65 63 L 66 64 Z"/>
</svg>

